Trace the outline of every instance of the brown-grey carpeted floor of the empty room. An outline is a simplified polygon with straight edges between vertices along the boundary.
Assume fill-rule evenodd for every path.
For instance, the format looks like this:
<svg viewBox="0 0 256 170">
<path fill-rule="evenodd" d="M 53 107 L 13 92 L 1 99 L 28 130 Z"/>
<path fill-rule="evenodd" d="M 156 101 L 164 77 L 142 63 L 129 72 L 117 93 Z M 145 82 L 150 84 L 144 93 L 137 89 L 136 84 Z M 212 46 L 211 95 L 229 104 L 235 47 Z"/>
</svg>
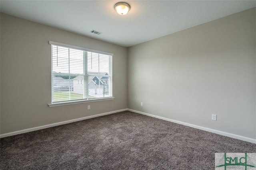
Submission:
<svg viewBox="0 0 256 170">
<path fill-rule="evenodd" d="M 0 169 L 213 170 L 256 144 L 124 111 L 0 140 Z"/>
</svg>

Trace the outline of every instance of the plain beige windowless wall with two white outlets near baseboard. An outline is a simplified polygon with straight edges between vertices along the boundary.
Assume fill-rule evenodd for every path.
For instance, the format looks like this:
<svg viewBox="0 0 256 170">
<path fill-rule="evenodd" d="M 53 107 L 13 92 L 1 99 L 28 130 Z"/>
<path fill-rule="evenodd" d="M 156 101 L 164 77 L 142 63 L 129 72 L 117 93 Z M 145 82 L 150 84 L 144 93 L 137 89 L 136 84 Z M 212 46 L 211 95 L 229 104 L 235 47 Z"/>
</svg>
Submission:
<svg viewBox="0 0 256 170">
<path fill-rule="evenodd" d="M 255 9 L 129 47 L 128 108 L 256 139 Z"/>
</svg>

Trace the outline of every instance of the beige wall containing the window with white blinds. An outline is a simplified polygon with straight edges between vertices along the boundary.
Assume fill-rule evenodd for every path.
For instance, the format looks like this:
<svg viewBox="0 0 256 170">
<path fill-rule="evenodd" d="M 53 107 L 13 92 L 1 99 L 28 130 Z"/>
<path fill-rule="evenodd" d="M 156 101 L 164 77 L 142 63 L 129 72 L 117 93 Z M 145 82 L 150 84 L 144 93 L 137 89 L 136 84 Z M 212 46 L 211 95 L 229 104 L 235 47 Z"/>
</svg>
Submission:
<svg viewBox="0 0 256 170">
<path fill-rule="evenodd" d="M 49 40 L 113 53 L 115 99 L 48 107 L 51 103 Z M 1 13 L 0 52 L 1 134 L 127 108 L 125 47 Z"/>
</svg>

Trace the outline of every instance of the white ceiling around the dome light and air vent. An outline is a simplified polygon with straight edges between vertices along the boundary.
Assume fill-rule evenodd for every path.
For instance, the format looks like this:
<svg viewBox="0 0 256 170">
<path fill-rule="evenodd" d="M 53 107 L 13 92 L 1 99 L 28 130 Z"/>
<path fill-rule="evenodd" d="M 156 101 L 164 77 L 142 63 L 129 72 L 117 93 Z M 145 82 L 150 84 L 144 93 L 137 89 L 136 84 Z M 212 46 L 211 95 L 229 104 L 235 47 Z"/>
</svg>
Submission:
<svg viewBox="0 0 256 170">
<path fill-rule="evenodd" d="M 117 2 L 122 0 L 1 0 L 0 10 L 130 47 L 256 7 L 256 0 L 124 0 L 131 10 L 121 16 L 114 10 Z"/>
</svg>

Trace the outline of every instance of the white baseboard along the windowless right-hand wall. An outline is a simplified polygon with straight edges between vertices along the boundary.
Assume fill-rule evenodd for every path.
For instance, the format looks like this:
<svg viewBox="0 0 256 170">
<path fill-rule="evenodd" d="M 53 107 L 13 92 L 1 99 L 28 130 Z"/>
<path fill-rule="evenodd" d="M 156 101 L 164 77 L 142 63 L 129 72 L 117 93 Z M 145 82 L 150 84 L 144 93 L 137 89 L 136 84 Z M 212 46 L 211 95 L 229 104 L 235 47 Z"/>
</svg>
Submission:
<svg viewBox="0 0 256 170">
<path fill-rule="evenodd" d="M 190 124 L 190 123 L 185 123 L 185 122 L 182 122 L 182 121 L 168 119 L 168 118 L 161 117 L 161 116 L 151 115 L 151 114 L 144 113 L 144 112 L 137 111 L 137 110 L 133 110 L 133 109 L 128 109 L 128 110 L 132 111 L 134 113 L 139 113 L 139 114 L 142 114 L 142 115 L 147 115 L 147 116 L 150 116 L 150 117 L 155 117 L 155 118 L 158 118 L 158 119 L 170 121 L 170 122 L 173 122 L 173 123 L 178 123 L 178 124 L 189 126 L 189 127 L 194 127 L 196 129 L 201 129 L 203 131 L 208 131 L 208 132 L 216 133 L 216 134 L 223 135 L 223 136 L 226 136 L 226 137 L 231 137 L 231 138 L 234 138 L 234 139 L 240 139 L 242 141 L 246 141 L 246 142 L 250 142 L 250 143 L 255 143 L 256 144 L 256 139 L 252 139 L 252 138 L 249 138 L 249 137 L 244 137 L 244 136 L 240 136 L 240 135 L 236 135 L 236 134 L 232 134 L 232 133 L 218 131 L 218 130 L 215 130 L 215 129 L 210 129 L 210 128 L 207 128 L 207 127 L 202 127 L 202 126 L 193 125 L 193 124 Z"/>
</svg>

